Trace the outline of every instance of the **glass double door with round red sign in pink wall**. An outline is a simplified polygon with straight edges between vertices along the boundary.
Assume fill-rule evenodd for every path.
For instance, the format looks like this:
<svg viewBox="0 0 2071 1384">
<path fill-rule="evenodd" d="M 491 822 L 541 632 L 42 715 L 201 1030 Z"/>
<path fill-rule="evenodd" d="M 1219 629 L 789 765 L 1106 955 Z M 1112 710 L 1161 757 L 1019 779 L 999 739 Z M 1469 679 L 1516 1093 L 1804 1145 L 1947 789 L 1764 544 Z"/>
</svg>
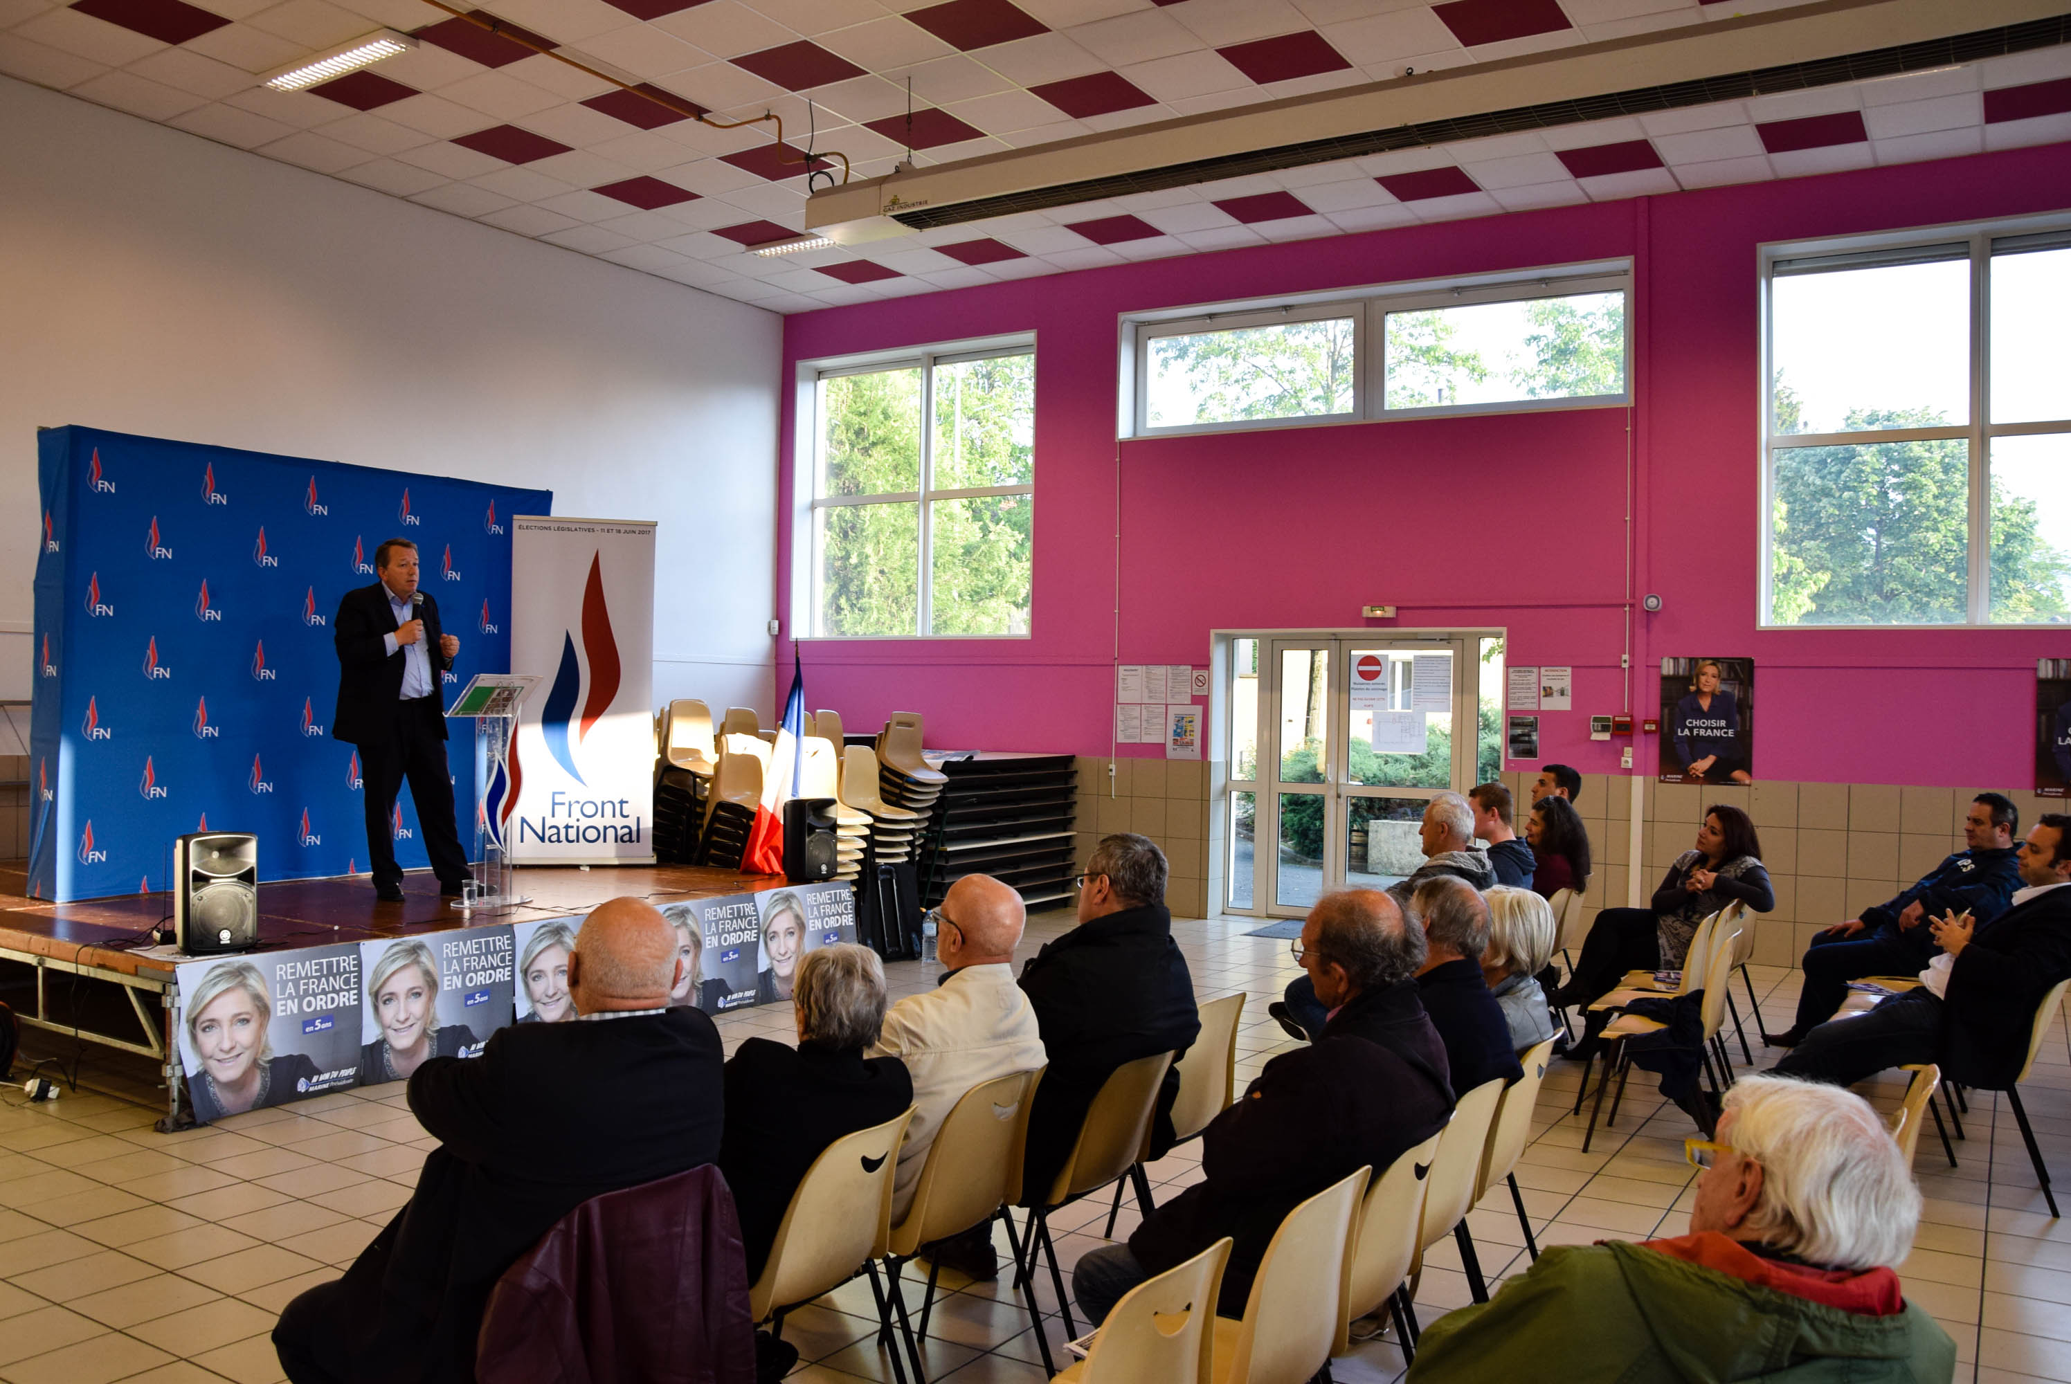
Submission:
<svg viewBox="0 0 2071 1384">
<path fill-rule="evenodd" d="M 1247 665 L 1251 694 L 1232 698 L 1230 910 L 1301 916 L 1332 889 L 1385 889 L 1423 862 L 1425 804 L 1497 775 L 1499 638 L 1234 640 L 1238 677 Z"/>
</svg>

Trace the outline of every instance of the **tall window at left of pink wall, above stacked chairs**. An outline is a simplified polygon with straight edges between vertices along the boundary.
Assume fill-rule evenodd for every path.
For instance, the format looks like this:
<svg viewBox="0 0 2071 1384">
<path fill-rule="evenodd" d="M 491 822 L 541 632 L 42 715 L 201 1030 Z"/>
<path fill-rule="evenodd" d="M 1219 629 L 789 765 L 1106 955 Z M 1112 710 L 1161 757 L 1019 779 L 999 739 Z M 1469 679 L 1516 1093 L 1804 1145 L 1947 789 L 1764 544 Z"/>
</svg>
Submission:
<svg viewBox="0 0 2071 1384">
<path fill-rule="evenodd" d="M 1025 636 L 1036 354 L 924 354 L 814 385 L 820 636 Z"/>
</svg>

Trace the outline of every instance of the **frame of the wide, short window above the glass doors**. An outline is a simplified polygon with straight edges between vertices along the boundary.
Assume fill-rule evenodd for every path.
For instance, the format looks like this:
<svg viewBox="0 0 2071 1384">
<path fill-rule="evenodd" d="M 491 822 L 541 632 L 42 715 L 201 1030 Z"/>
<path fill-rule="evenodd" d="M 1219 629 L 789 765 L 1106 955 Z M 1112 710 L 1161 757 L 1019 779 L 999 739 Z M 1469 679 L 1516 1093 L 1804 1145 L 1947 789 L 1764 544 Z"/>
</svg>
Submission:
<svg viewBox="0 0 2071 1384">
<path fill-rule="evenodd" d="M 1342 427 L 1348 423 L 1388 423 L 1394 419 L 1431 419 L 1485 412 L 1543 412 L 1555 408 L 1628 408 L 1632 404 L 1632 261 L 1591 261 L 1477 273 L 1443 280 L 1412 280 L 1350 290 L 1292 294 L 1282 298 L 1245 298 L 1222 305 L 1191 305 L 1156 313 L 1125 313 L 1122 390 L 1116 435 L 1185 437 L 1195 433 L 1238 433 L 1276 427 Z M 1578 394 L 1566 398 L 1522 398 L 1487 404 L 1427 404 L 1419 408 L 1388 408 L 1388 313 L 1427 311 L 1435 307 L 1468 307 L 1479 302 L 1530 302 L 1566 298 L 1586 292 L 1617 292 L 1626 311 L 1626 387 L 1620 394 Z M 1180 423 L 1154 427 L 1149 423 L 1149 342 L 1166 336 L 1197 336 L 1234 331 L 1294 321 L 1352 319 L 1352 410 L 1332 414 L 1282 414 L 1274 419 L 1230 419 L 1226 423 Z"/>
</svg>

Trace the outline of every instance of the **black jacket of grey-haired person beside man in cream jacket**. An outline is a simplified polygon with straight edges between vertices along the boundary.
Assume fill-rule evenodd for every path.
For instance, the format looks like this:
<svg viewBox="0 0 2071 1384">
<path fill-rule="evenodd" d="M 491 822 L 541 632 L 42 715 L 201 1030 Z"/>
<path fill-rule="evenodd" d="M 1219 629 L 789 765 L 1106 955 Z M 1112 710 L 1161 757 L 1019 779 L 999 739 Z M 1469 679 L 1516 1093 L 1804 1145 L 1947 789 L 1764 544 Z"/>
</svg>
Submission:
<svg viewBox="0 0 2071 1384">
<path fill-rule="evenodd" d="M 762 1274 L 812 1160 L 841 1135 L 897 1119 L 909 1104 L 913 1077 L 897 1057 L 866 1059 L 859 1048 L 816 1042 L 789 1048 L 768 1038 L 748 1038 L 733 1050 L 719 1171 L 733 1187 L 750 1282 Z"/>
</svg>

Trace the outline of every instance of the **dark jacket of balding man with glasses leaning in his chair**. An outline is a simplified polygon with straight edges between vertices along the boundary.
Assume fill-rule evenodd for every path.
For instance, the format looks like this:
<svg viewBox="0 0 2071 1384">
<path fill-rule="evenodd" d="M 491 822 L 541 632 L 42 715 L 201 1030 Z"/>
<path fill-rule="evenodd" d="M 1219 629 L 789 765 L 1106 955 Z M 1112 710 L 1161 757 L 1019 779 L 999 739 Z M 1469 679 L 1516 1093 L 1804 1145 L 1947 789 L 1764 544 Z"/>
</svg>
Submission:
<svg viewBox="0 0 2071 1384">
<path fill-rule="evenodd" d="M 1205 1179 L 1154 1210 L 1129 1251 L 1162 1274 L 1232 1235 L 1220 1314 L 1241 1318 L 1259 1260 L 1299 1202 L 1361 1164 L 1379 1177 L 1450 1113 L 1446 1044 L 1414 982 L 1359 994 L 1321 1042 L 1265 1063 L 1243 1100 L 1216 1117 L 1201 1135 Z"/>
</svg>

